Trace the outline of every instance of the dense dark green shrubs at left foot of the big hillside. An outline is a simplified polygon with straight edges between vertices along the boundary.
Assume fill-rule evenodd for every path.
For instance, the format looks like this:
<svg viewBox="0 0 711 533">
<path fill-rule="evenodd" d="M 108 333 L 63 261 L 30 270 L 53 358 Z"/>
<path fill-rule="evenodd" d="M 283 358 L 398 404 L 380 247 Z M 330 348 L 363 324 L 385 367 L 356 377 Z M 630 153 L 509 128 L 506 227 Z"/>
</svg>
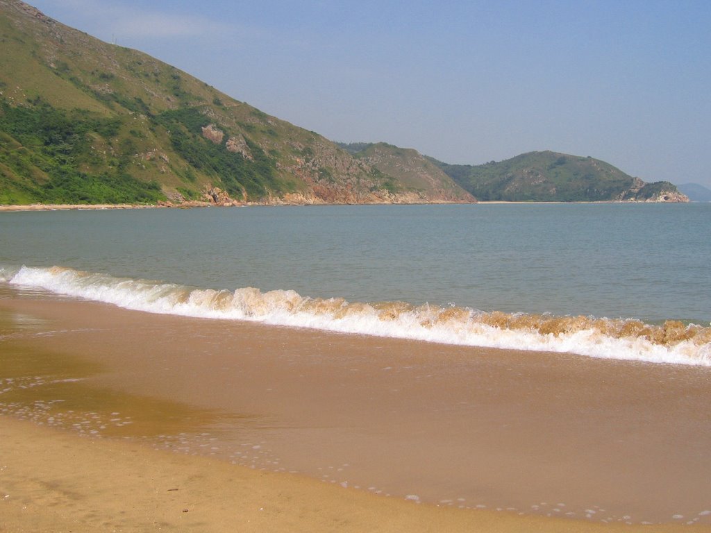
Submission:
<svg viewBox="0 0 711 533">
<path fill-rule="evenodd" d="M 99 173 L 82 171 L 91 161 L 92 136 L 110 139 L 116 119 L 55 109 L 40 98 L 23 107 L 0 99 L 0 203 L 156 203 L 156 181 L 127 172 L 127 146 Z"/>
</svg>

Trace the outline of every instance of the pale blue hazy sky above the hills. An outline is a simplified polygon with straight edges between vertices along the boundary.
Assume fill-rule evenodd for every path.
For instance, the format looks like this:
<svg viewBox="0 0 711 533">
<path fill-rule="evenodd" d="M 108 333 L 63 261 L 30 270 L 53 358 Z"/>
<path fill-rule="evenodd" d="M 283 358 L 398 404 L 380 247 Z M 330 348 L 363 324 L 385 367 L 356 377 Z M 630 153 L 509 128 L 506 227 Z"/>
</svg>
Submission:
<svg viewBox="0 0 711 533">
<path fill-rule="evenodd" d="M 707 0 L 30 0 L 333 141 L 711 188 Z"/>
</svg>

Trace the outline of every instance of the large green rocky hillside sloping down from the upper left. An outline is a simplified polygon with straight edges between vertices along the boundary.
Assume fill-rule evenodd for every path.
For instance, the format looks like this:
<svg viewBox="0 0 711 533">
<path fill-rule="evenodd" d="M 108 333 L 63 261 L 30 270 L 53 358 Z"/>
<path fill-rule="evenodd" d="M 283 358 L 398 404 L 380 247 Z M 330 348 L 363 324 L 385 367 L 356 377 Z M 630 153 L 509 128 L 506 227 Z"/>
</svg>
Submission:
<svg viewBox="0 0 711 533">
<path fill-rule="evenodd" d="M 0 203 L 451 201 L 21 1 L 0 45 Z"/>
</svg>

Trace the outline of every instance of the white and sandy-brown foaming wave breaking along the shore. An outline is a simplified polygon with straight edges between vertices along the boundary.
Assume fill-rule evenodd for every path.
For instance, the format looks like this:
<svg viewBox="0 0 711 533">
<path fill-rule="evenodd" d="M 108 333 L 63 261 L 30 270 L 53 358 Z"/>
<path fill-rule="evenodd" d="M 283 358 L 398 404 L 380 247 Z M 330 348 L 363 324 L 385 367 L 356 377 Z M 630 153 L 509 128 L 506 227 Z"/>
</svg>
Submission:
<svg viewBox="0 0 711 533">
<path fill-rule="evenodd" d="M 589 357 L 711 366 L 711 327 L 666 321 L 486 313 L 400 301 L 348 302 L 295 291 L 196 289 L 75 269 L 1 269 L 0 281 L 128 309 L 198 318 L 257 321 L 432 343 L 570 352 Z"/>
</svg>

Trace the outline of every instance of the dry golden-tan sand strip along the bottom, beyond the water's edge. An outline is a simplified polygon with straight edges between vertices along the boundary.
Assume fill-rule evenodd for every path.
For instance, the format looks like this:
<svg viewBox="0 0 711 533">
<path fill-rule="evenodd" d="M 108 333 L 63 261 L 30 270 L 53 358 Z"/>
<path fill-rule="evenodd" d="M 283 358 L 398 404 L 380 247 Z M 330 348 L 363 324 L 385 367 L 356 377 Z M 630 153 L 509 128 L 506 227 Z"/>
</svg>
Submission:
<svg viewBox="0 0 711 533">
<path fill-rule="evenodd" d="M 0 532 L 675 532 L 463 511 L 0 417 Z"/>
</svg>

